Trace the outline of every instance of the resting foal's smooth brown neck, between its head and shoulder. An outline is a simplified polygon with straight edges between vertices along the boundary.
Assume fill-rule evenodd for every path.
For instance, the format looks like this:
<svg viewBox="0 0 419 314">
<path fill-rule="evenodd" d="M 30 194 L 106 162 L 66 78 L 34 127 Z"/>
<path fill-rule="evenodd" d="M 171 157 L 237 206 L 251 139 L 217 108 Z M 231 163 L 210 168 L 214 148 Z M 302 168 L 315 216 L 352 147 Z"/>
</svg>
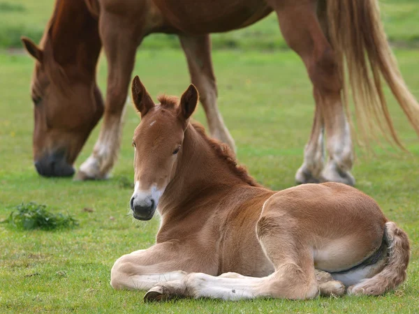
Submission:
<svg viewBox="0 0 419 314">
<path fill-rule="evenodd" d="M 230 170 L 223 158 L 217 156 L 210 143 L 192 126 L 186 129 L 182 155 L 179 156 L 175 178 L 161 198 L 159 210 L 182 211 L 190 200 L 216 197 L 234 186 L 246 184 Z M 174 213 L 172 213 L 174 214 Z"/>
</svg>

